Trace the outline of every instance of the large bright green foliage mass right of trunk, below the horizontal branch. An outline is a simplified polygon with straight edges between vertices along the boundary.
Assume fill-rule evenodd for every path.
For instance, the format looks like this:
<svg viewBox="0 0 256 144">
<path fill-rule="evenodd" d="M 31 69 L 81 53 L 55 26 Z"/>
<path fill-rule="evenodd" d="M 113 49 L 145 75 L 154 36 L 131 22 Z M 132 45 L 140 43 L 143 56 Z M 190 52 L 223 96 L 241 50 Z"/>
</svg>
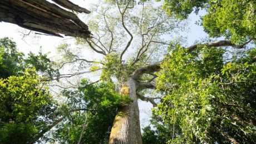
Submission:
<svg viewBox="0 0 256 144">
<path fill-rule="evenodd" d="M 255 143 L 255 51 L 225 62 L 223 49 L 204 45 L 166 55 L 157 84 L 165 97 L 154 113 L 175 127 L 169 142 Z"/>
</svg>

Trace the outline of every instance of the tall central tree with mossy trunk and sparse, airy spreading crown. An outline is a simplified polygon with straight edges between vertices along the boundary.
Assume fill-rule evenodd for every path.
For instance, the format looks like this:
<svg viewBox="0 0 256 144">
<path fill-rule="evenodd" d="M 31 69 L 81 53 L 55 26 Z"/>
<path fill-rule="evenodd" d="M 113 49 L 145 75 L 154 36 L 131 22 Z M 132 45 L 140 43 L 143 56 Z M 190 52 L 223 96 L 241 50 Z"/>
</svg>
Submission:
<svg viewBox="0 0 256 144">
<path fill-rule="evenodd" d="M 114 1 L 108 5 L 102 2 L 93 11 L 93 17 L 88 18 L 93 37 L 77 38 L 77 43 L 86 45 L 99 57 L 88 59 L 81 48 L 77 51 L 64 44 L 58 48 L 70 60 L 64 66 L 89 64 L 90 70 L 100 70 L 100 80 L 115 84 L 117 91 L 129 95 L 132 102 L 117 110 L 109 143 L 142 143 L 137 99 L 156 105 L 157 97 L 145 97 L 143 91 L 155 89 L 151 83 L 154 71 L 159 69 L 155 63 L 161 60 L 170 42 L 163 36 L 171 37 L 184 23 L 167 16 L 151 2 Z"/>
</svg>

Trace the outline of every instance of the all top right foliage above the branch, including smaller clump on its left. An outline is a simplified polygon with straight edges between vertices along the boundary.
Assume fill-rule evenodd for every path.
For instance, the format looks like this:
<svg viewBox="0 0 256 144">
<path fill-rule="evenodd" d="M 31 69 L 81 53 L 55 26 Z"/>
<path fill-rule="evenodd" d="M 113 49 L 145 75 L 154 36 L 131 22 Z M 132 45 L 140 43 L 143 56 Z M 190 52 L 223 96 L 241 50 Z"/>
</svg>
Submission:
<svg viewBox="0 0 256 144">
<path fill-rule="evenodd" d="M 207 12 L 202 17 L 205 32 L 210 37 L 224 36 L 240 44 L 256 37 L 255 4 L 254 0 L 165 0 L 163 8 L 181 19 L 187 18 L 193 10 L 197 13 L 204 8 Z"/>
</svg>

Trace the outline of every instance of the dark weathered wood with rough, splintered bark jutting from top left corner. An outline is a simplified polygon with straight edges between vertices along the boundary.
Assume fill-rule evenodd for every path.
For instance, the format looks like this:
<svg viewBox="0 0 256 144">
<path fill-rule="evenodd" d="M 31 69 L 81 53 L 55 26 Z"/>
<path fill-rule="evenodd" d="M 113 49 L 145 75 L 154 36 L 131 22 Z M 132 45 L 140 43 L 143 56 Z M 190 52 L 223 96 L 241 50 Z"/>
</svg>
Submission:
<svg viewBox="0 0 256 144">
<path fill-rule="evenodd" d="M 74 9 L 70 9 L 78 11 L 78 8 L 80 7 L 75 5 Z M 58 37 L 62 37 L 60 34 L 81 38 L 90 37 L 88 26 L 74 13 L 45 0 L 1 0 L 0 22 L 2 21 Z"/>
</svg>

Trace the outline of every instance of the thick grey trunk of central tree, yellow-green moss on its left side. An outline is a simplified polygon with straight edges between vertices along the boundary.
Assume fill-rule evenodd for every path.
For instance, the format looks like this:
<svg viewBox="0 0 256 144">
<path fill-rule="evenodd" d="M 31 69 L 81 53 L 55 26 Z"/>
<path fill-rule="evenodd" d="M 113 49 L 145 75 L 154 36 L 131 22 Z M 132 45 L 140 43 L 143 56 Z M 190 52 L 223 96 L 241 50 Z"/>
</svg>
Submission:
<svg viewBox="0 0 256 144">
<path fill-rule="evenodd" d="M 136 81 L 129 77 L 122 84 L 121 94 L 129 95 L 133 100 L 118 110 L 111 129 L 109 143 L 142 143 L 140 132 L 139 107 L 136 97 Z"/>
</svg>

